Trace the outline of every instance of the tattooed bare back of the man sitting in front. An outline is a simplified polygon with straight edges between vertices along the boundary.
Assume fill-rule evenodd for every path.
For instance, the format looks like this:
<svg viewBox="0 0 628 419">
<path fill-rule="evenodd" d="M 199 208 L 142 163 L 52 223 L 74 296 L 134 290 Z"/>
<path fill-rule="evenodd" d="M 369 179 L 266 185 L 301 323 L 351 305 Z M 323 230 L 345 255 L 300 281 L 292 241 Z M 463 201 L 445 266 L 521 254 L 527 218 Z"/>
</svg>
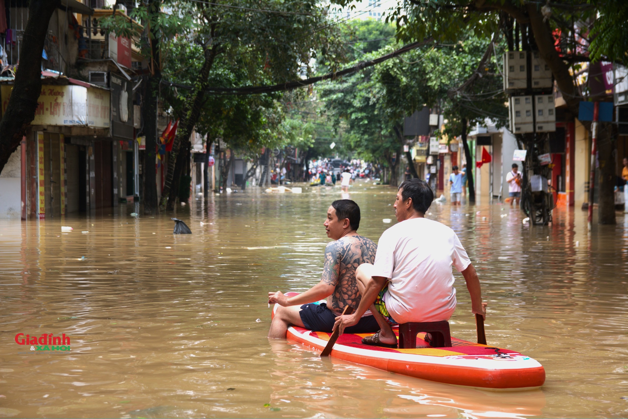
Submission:
<svg viewBox="0 0 628 419">
<path fill-rule="evenodd" d="M 377 246 L 369 238 L 360 235 L 344 236 L 328 243 L 325 248 L 323 282 L 335 287 L 327 297 L 327 307 L 341 313 L 347 305 L 354 309 L 362 297 L 355 280 L 355 269 L 362 263 L 374 263 Z"/>
</svg>

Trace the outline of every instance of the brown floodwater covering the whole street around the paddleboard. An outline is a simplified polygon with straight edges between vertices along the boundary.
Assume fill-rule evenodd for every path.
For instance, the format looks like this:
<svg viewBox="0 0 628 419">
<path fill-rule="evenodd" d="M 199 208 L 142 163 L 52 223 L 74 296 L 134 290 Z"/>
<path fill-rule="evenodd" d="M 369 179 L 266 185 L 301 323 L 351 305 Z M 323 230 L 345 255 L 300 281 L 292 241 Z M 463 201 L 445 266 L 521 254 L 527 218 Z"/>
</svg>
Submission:
<svg viewBox="0 0 628 419">
<path fill-rule="evenodd" d="M 430 208 L 477 267 L 489 344 L 543 364 L 541 390 L 443 385 L 269 341 L 267 292 L 318 282 L 322 223 L 338 189 L 199 197 L 176 213 L 192 235 L 173 235 L 171 214 L 131 216 L 134 204 L 0 221 L 0 417 L 628 416 L 628 218 L 620 213 L 616 226 L 587 235 L 579 209 L 558 208 L 553 226 L 533 227 L 502 204 Z M 392 225 L 382 219 L 395 222 L 394 193 L 351 189 L 362 235 L 377 241 Z M 452 333 L 473 340 L 458 273 L 456 287 Z M 30 351 L 14 341 L 20 332 L 65 333 L 72 350 Z"/>
</svg>

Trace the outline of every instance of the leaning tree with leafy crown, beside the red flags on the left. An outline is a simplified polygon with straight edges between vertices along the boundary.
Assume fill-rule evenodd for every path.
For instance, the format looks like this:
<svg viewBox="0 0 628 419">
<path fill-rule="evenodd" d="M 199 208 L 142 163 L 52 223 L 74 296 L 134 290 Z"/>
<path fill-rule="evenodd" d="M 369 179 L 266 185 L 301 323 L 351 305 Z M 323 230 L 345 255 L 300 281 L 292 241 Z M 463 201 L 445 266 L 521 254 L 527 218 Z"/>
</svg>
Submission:
<svg viewBox="0 0 628 419">
<path fill-rule="evenodd" d="M 222 7 L 226 6 L 226 7 Z M 190 9 L 197 23 L 188 36 L 179 36 L 184 46 L 200 45 L 203 65 L 193 79 L 193 90 L 187 94 L 180 126 L 173 144 L 161 206 L 174 208 L 176 187 L 182 159 L 180 147 L 186 150 L 189 135 L 201 116 L 209 77 L 216 63 L 237 63 L 246 70 L 245 83 L 283 82 L 298 78 L 313 57 L 312 51 L 325 45 L 323 54 L 336 56 L 333 34 L 327 24 L 327 9 L 316 1 L 289 0 L 249 1 L 237 8 L 217 3 L 194 3 Z M 192 54 L 193 56 L 193 54 Z M 182 65 L 190 65 L 189 61 Z M 228 70 L 227 70 L 228 71 Z M 173 80 L 174 81 L 174 80 Z M 228 137 L 224 137 L 229 141 Z"/>
</svg>

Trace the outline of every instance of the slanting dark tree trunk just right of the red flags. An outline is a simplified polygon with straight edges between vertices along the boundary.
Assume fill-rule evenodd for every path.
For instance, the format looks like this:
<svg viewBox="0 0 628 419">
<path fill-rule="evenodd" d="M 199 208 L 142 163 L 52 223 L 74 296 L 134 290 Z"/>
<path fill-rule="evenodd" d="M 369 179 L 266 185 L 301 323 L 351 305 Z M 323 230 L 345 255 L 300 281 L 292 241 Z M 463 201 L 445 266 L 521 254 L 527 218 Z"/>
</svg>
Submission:
<svg viewBox="0 0 628 419">
<path fill-rule="evenodd" d="M 218 54 L 218 47 L 216 45 L 212 46 L 212 48 L 205 48 L 203 51 L 203 55 L 205 56 L 205 61 L 203 61 L 203 66 L 198 73 L 197 82 L 194 83 L 194 92 L 192 93 L 192 100 L 187 101 L 189 105 L 185 107 L 185 116 L 181 121 L 180 130 L 177 130 L 176 137 L 174 143 L 172 145 L 172 151 L 170 152 L 170 158 L 168 159 L 168 172 L 166 173 L 166 182 L 163 186 L 163 191 L 161 191 L 161 202 L 160 206 L 166 206 L 167 210 L 173 210 L 175 208 L 176 202 L 176 189 L 178 189 L 179 179 L 181 176 L 181 167 L 187 156 L 185 153 L 180 153 L 180 151 L 184 151 L 190 149 L 188 144 L 190 144 L 190 135 L 192 135 L 192 130 L 194 126 L 198 122 L 198 118 L 200 117 L 200 112 L 203 107 L 203 100 L 205 98 L 205 90 L 209 86 L 208 75 L 212 66 L 214 65 L 214 58 Z M 180 155 L 181 154 L 181 155 Z M 176 167 L 179 167 L 176 170 Z"/>
</svg>

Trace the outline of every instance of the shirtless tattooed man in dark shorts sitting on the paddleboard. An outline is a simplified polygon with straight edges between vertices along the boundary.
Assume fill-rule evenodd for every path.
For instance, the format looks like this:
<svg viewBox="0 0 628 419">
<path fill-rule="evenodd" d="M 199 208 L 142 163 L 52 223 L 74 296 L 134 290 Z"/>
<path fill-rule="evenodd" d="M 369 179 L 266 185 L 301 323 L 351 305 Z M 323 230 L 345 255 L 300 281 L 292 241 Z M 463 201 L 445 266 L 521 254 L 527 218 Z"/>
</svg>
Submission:
<svg viewBox="0 0 628 419">
<path fill-rule="evenodd" d="M 295 325 L 319 332 L 331 332 L 335 318 L 347 305 L 360 304 L 355 269 L 362 263 L 373 263 L 377 247 L 372 240 L 357 234 L 360 207 L 350 199 L 333 201 L 325 220 L 327 236 L 334 241 L 325 248 L 325 267 L 320 282 L 309 290 L 286 297 L 281 291 L 269 292 L 268 303 L 279 304 L 268 337 L 286 337 L 288 326 Z M 327 303 L 316 304 L 327 299 Z M 349 333 L 371 333 L 379 330 L 370 312 L 347 328 Z"/>
</svg>

